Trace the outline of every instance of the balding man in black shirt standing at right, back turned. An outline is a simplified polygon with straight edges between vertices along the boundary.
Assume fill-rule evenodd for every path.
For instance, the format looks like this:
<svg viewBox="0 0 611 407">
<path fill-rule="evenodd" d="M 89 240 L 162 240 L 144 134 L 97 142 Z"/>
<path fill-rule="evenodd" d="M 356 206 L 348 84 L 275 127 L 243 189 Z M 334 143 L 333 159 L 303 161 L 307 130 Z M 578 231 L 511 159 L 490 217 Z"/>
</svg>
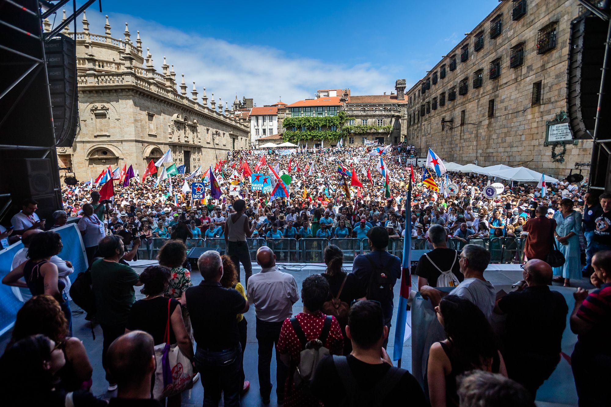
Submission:
<svg viewBox="0 0 611 407">
<path fill-rule="evenodd" d="M 524 264 L 524 282 L 497 301 L 494 312 L 507 314 L 503 359 L 509 377 L 532 394 L 560 361 L 560 342 L 566 326 L 565 297 L 549 289 L 552 268 L 538 259 Z"/>
</svg>

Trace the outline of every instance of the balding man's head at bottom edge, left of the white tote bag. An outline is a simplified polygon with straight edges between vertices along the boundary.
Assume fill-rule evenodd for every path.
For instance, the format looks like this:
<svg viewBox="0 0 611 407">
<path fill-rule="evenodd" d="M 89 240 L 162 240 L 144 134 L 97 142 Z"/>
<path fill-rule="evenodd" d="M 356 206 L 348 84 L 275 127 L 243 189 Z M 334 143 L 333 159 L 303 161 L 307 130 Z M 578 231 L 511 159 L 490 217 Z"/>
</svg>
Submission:
<svg viewBox="0 0 611 407">
<path fill-rule="evenodd" d="M 131 331 L 112 342 L 108 348 L 108 371 L 117 380 L 117 397 L 111 398 L 109 406 L 161 407 L 151 398 L 153 347 L 153 337 L 143 331 Z"/>
</svg>

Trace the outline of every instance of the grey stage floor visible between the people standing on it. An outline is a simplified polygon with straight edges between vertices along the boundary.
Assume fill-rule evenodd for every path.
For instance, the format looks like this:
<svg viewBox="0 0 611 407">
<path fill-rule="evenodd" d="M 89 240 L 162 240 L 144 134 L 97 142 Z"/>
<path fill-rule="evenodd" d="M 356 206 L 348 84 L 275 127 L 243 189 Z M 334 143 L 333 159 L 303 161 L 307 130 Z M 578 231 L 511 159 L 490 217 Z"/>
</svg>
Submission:
<svg viewBox="0 0 611 407">
<path fill-rule="evenodd" d="M 148 265 L 156 264 L 153 261 L 137 261 L 133 262 L 133 267 L 136 269 L 138 273 L 142 272 L 145 267 Z M 301 287 L 302 281 L 307 278 L 307 276 L 322 273 L 325 270 L 324 264 L 296 264 L 296 263 L 279 263 L 277 264 L 280 270 L 290 273 L 295 276 L 297 284 Z M 352 269 L 352 264 L 345 264 L 345 270 L 350 272 Z M 261 268 L 257 264 L 253 264 L 253 273 L 260 272 Z M 518 264 L 492 264 L 486 270 L 484 274 L 485 278 L 488 279 L 494 285 L 506 285 L 512 284 L 516 281 L 519 281 L 522 278 L 522 270 Z M 244 284 L 244 276 L 242 275 L 242 284 Z M 194 284 L 199 284 L 202 281 L 202 276 L 199 272 L 192 272 L 191 279 Z M 573 283 L 577 283 L 577 285 L 591 288 L 589 281 L 573 281 Z M 555 283 L 554 283 L 555 284 Z M 417 287 L 417 277 L 412 276 L 412 287 Z M 395 286 L 395 298 L 398 296 L 398 284 Z M 144 295 L 140 294 L 139 290 L 136 290 L 136 298 L 143 298 Z M 395 300 L 395 303 L 397 301 Z M 99 326 L 95 328 L 96 339 L 93 340 L 91 330 L 89 328 L 89 323 L 84 319 L 83 314 L 77 314 L 75 311 L 78 310 L 78 306 L 76 304 L 72 304 L 73 309 L 73 330 L 74 336 L 78 337 L 84 343 L 87 354 L 89 355 L 89 359 L 93 366 L 93 386 L 92 392 L 93 394 L 101 397 L 112 397 L 112 394 L 108 394 L 106 391 L 106 387 L 108 383 L 104 380 L 104 372 L 101 364 L 101 351 L 102 351 L 102 332 Z M 302 311 L 302 303 L 299 300 L 293 306 L 293 315 L 298 314 Z M 570 311 L 570 310 L 569 310 Z M 395 308 L 396 315 L 397 309 Z M 246 373 L 246 380 L 251 382 L 251 389 L 243 396 L 241 405 L 243 406 L 263 406 L 261 397 L 258 392 L 258 380 L 257 380 L 257 339 L 255 337 L 255 312 L 254 309 L 247 312 L 246 320 L 248 322 L 248 339 L 246 345 L 246 353 L 244 355 L 244 372 Z M 389 344 L 388 348 L 392 349 L 394 345 L 394 336 L 395 336 L 395 326 L 390 328 L 389 334 Z M 8 340 L 10 337 L 10 331 L 5 333 L 0 337 L 0 348 L 4 350 Z M 389 352 L 392 355 L 392 351 Z M 411 369 L 411 339 L 406 340 L 403 345 L 403 355 L 402 355 L 402 364 L 401 367 L 404 369 Z M 275 400 L 275 376 L 276 376 L 276 367 L 275 367 L 276 359 L 272 358 L 271 365 L 271 380 L 274 386 L 274 390 L 272 391 L 272 400 L 268 406 L 276 406 Z M 552 375 L 551 380 L 557 378 L 558 380 L 565 381 L 566 383 L 558 383 L 555 387 L 563 387 L 562 397 L 555 397 L 556 400 L 562 400 L 566 404 L 562 403 L 539 403 L 537 405 L 540 407 L 551 407 L 551 406 L 572 406 L 577 405 L 577 396 L 575 393 L 575 386 L 573 382 L 573 376 L 560 376 L 557 377 L 555 372 Z M 200 383 L 196 383 L 193 386 L 193 389 L 183 393 L 183 406 L 201 406 L 203 400 L 203 388 Z"/>
</svg>

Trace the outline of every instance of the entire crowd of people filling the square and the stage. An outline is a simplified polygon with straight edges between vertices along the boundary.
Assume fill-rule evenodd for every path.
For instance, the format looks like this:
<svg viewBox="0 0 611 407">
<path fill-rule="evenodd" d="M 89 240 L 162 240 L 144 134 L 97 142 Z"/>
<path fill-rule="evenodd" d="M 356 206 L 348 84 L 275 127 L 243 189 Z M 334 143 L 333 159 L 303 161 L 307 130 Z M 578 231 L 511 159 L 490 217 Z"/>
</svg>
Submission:
<svg viewBox="0 0 611 407">
<path fill-rule="evenodd" d="M 18 312 L 0 358 L 5 394 L 20 404 L 106 405 L 88 392 L 93 369 L 82 343 L 72 337 L 65 282 L 73 268 L 57 257 L 62 241 L 53 229 L 77 217 L 90 264 L 93 306 L 86 311 L 101 326 L 103 369 L 109 391 L 117 391 L 110 405 L 128 405 L 133 398 L 147 399 L 142 405 L 156 406 L 159 400 L 180 405 L 180 392 L 159 388 L 159 380 L 163 387 L 167 379 L 162 359 L 169 347 L 164 344 L 191 362 L 185 374 L 191 372 L 191 382 L 201 381 L 203 405 L 218 405 L 221 397 L 226 406 L 240 405 L 250 388 L 243 364 L 244 314 L 255 312 L 263 403 L 270 402 L 275 388 L 277 402 L 286 406 L 390 405 L 404 403 L 405 394 L 422 406 L 494 406 L 508 400 L 532 406 L 560 361 L 569 312 L 564 297 L 549 286 L 552 281 L 570 286 L 584 275 L 596 289 L 574 293 L 569 320 L 579 340 L 571 367 L 580 405 L 608 405 L 609 398 L 599 391 L 608 374 L 591 376 L 609 366 L 604 341 L 611 326 L 611 195 L 604 193 L 596 202 L 581 185 L 563 180 L 549 185 L 546 196 L 532 185 L 508 184 L 496 198 L 485 199 L 481 191 L 489 180 L 463 174 L 449 175 L 458 185 L 450 195 L 420 182 L 421 170 L 409 165 L 412 154 L 407 145 L 376 156 L 363 147 L 310 149 L 292 156 L 234 151 L 215 171 L 221 198 L 212 198 L 208 190 L 205 199 L 191 200 L 189 192 L 170 194 L 169 181 L 155 186 L 155 180 L 144 179 L 115 186 L 114 200 L 101 201 L 95 186 L 81 184 L 64 188 L 65 210 L 55 212 L 53 225 L 37 217 L 34 200 L 24 201 L 13 229 L 2 231 L 2 238 L 20 236 L 26 247 L 2 283 L 27 288 L 32 295 Z M 247 178 L 232 195 L 233 172 L 241 173 L 246 162 L 255 172 L 263 156 L 269 167 L 279 163 L 280 172 L 290 175 L 288 196 L 272 199 L 271 193 L 252 192 Z M 381 159 L 389 187 L 376 170 Z M 340 175 L 338 162 L 343 172 L 359 174 L 362 187 L 349 185 L 357 184 L 357 177 Z M 411 219 L 406 219 L 412 168 Z M 260 172 L 279 171 L 266 166 Z M 186 176 L 172 177 L 174 191 L 180 191 Z M 430 347 L 423 387 L 407 370 L 394 367 L 386 353 L 402 262 L 387 248 L 406 232 L 432 249 L 412 273 L 444 333 Z M 356 237 L 367 242 L 370 253 L 356 256 L 352 272 L 346 273 L 342 250 L 327 245 L 325 272 L 305 278 L 299 290 L 293 275 L 277 267 L 273 248 L 258 249 L 261 271 L 252 274 L 246 239 L 257 236 Z M 216 250 L 200 256 L 197 272 L 203 281 L 197 286 L 186 261 L 185 242 L 193 237 L 227 243 L 222 256 Z M 497 295 L 484 270 L 495 242 L 512 237 L 525 240 L 524 258 L 514 259 L 525 261 L 523 281 L 518 290 Z M 166 239 L 159 265 L 138 275 L 130 261 L 140 247 L 150 248 L 152 238 Z M 554 251 L 562 253 L 562 264 L 551 261 Z M 134 286 L 142 286 L 141 300 L 136 301 Z M 300 298 L 303 311 L 293 315 Z M 506 315 L 505 330 L 497 330 L 493 315 Z M 276 383 L 270 373 L 274 350 Z M 25 376 L 37 378 L 37 391 L 31 381 L 23 381 Z"/>
</svg>

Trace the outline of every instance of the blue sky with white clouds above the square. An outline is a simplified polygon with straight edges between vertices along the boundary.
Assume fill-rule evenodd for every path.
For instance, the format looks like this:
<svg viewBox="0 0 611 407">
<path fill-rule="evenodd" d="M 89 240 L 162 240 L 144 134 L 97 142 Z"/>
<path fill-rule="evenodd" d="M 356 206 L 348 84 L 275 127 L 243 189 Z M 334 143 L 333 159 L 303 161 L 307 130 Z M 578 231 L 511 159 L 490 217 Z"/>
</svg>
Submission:
<svg viewBox="0 0 611 407">
<path fill-rule="evenodd" d="M 166 56 L 189 92 L 196 81 L 208 98 L 214 92 L 232 103 L 238 93 L 263 106 L 279 96 L 286 103 L 312 97 L 318 88 L 391 92 L 398 78 L 409 88 L 498 4 L 103 0 L 103 12 L 93 4 L 87 20 L 90 32 L 103 34 L 108 14 L 115 38 L 123 38 L 126 22 L 132 39 L 139 30 L 155 67 Z"/>
</svg>

